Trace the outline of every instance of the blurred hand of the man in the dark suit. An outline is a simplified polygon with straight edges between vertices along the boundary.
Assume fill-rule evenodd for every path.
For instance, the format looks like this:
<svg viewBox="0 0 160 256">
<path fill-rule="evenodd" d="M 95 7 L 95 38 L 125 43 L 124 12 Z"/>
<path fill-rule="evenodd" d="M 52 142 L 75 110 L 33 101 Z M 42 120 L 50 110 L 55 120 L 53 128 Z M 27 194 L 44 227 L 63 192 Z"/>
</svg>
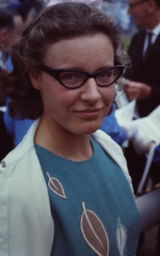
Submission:
<svg viewBox="0 0 160 256">
<path fill-rule="evenodd" d="M 151 89 L 151 86 L 147 84 L 133 81 L 128 81 L 124 86 L 124 90 L 129 100 L 147 99 L 151 95 Z"/>
</svg>

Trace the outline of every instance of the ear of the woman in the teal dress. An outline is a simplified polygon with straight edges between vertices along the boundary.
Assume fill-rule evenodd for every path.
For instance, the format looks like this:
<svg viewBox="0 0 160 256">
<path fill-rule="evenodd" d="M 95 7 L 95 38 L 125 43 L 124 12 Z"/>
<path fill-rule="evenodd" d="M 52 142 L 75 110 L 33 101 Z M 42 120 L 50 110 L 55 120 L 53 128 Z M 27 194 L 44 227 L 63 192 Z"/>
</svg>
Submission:
<svg viewBox="0 0 160 256">
<path fill-rule="evenodd" d="M 33 85 L 33 87 L 37 90 L 41 89 L 41 84 L 40 84 L 40 72 L 37 70 L 36 67 L 27 64 L 27 70 L 28 70 L 28 74 L 31 80 L 31 83 Z"/>
</svg>

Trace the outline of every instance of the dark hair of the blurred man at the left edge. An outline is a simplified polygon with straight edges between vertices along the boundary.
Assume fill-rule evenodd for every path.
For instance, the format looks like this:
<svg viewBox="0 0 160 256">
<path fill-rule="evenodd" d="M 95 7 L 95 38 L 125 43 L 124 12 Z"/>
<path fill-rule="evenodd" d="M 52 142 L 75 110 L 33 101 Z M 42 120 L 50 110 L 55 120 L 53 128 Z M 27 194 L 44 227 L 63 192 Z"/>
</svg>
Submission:
<svg viewBox="0 0 160 256">
<path fill-rule="evenodd" d="M 8 8 L 0 8 L 0 30 L 2 28 L 7 28 L 8 30 L 12 30 L 15 27 L 13 17 L 16 15 L 14 10 L 10 10 Z"/>
</svg>

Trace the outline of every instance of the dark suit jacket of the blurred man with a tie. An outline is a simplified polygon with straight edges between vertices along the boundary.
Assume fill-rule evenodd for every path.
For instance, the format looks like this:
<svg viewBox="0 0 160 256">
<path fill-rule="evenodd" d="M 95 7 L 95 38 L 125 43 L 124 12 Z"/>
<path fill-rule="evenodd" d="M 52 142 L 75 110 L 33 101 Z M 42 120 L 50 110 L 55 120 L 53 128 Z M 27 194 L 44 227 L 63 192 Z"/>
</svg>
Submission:
<svg viewBox="0 0 160 256">
<path fill-rule="evenodd" d="M 143 60 L 145 35 L 146 31 L 141 30 L 133 36 L 128 49 L 132 67 L 125 73 L 126 78 L 152 87 L 150 99 L 137 101 L 140 117 L 148 115 L 160 104 L 160 34 L 152 45 L 148 58 Z"/>
</svg>

